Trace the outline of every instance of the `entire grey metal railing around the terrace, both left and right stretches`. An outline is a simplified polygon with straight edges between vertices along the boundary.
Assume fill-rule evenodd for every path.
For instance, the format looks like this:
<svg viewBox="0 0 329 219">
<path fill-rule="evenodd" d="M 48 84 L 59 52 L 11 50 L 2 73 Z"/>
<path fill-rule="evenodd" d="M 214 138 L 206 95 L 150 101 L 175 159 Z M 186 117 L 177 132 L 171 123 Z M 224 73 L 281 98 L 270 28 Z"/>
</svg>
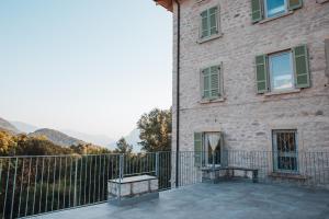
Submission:
<svg viewBox="0 0 329 219">
<path fill-rule="evenodd" d="M 202 159 L 201 159 L 202 158 Z M 109 180 L 155 175 L 159 191 L 201 183 L 204 166 L 257 169 L 260 183 L 329 188 L 329 152 L 222 151 L 206 157 L 194 151 L 138 154 L 0 157 L 0 219 L 41 215 L 106 201 Z M 249 177 L 236 173 L 236 176 Z"/>
</svg>

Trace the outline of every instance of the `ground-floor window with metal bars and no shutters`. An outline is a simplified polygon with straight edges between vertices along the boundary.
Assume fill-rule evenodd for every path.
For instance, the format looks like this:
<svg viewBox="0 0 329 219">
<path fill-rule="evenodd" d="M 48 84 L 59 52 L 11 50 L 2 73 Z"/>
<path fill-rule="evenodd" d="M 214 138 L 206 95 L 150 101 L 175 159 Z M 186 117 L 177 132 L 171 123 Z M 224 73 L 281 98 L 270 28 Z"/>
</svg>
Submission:
<svg viewBox="0 0 329 219">
<path fill-rule="evenodd" d="M 274 172 L 298 172 L 297 131 L 273 130 Z"/>
</svg>

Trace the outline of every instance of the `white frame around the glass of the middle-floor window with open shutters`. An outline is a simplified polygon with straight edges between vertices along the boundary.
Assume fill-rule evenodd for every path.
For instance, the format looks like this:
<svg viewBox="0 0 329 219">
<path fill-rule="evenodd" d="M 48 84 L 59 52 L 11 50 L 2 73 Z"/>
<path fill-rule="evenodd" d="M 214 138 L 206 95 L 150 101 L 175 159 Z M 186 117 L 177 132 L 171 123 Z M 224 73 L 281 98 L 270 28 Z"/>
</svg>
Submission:
<svg viewBox="0 0 329 219">
<path fill-rule="evenodd" d="M 288 89 L 274 89 L 274 80 L 273 80 L 271 57 L 281 56 L 283 54 L 290 54 L 293 87 L 288 88 Z M 271 90 L 271 92 L 291 91 L 291 90 L 295 90 L 296 89 L 296 84 L 295 84 L 295 67 L 294 67 L 294 60 L 293 59 L 294 59 L 294 57 L 293 57 L 293 51 L 292 50 L 285 50 L 285 51 L 280 51 L 280 53 L 268 55 L 268 62 L 269 62 L 269 65 L 268 65 L 268 71 L 269 71 L 269 82 L 270 82 L 270 90 Z"/>
</svg>

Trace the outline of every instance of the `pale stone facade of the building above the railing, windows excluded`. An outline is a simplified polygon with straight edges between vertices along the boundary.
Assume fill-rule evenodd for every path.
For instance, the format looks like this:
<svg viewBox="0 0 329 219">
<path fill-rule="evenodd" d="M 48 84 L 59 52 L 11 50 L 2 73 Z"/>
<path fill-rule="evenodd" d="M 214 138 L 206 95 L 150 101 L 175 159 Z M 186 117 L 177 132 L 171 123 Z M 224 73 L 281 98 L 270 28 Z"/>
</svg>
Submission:
<svg viewBox="0 0 329 219">
<path fill-rule="evenodd" d="M 220 7 L 220 37 L 197 43 L 200 13 Z M 253 24 L 250 0 L 181 1 L 180 150 L 195 131 L 223 131 L 226 149 L 272 150 L 273 129 L 296 129 L 299 151 L 329 150 L 329 77 L 325 42 L 329 3 L 304 0 L 285 16 Z M 327 41 L 328 42 L 328 41 Z M 311 87 L 257 94 L 254 57 L 306 44 Z M 224 99 L 201 103 L 200 70 L 223 65 Z M 173 135 L 177 132 L 177 5 L 173 5 Z"/>
</svg>

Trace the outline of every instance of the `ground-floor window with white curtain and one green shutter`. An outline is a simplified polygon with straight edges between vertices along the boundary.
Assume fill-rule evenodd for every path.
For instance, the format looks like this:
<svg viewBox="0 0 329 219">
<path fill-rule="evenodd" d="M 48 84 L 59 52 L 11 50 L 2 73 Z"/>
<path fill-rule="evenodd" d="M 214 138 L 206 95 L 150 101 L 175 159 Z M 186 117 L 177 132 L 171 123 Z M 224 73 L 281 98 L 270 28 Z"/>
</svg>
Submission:
<svg viewBox="0 0 329 219">
<path fill-rule="evenodd" d="M 222 164 L 223 153 L 222 132 L 195 132 L 194 151 L 196 166 L 212 166 Z"/>
</svg>

